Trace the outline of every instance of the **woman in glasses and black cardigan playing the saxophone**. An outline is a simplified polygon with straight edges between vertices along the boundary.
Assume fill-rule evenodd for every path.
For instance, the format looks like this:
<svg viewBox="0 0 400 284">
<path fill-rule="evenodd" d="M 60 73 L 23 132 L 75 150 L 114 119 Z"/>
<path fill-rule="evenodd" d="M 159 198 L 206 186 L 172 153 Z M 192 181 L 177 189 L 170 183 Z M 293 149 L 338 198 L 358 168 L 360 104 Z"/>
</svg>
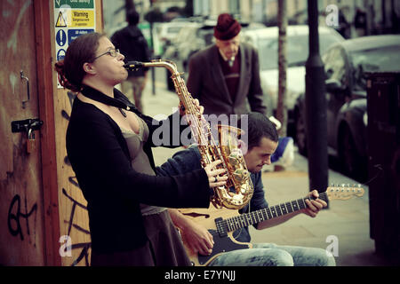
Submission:
<svg viewBox="0 0 400 284">
<path fill-rule="evenodd" d="M 128 73 L 106 36 L 78 36 L 55 68 L 60 83 L 77 93 L 67 153 L 87 201 L 92 265 L 189 265 L 165 207 L 207 208 L 210 187 L 226 184 L 225 170 L 215 170 L 221 161 L 156 176 L 152 133 L 171 116 L 155 125 L 115 88 Z M 191 103 L 201 112 L 198 101 Z"/>
</svg>

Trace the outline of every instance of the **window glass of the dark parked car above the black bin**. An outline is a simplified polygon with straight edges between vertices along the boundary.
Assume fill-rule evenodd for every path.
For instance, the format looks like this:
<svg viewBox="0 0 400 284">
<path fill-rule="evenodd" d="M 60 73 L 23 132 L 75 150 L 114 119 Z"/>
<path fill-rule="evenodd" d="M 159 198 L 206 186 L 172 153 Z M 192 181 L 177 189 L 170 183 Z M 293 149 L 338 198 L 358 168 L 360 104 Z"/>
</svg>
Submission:
<svg viewBox="0 0 400 284">
<path fill-rule="evenodd" d="M 366 72 L 400 71 L 400 46 L 385 46 L 379 49 L 353 51 L 350 58 L 353 64 L 355 90 L 366 90 Z"/>
</svg>

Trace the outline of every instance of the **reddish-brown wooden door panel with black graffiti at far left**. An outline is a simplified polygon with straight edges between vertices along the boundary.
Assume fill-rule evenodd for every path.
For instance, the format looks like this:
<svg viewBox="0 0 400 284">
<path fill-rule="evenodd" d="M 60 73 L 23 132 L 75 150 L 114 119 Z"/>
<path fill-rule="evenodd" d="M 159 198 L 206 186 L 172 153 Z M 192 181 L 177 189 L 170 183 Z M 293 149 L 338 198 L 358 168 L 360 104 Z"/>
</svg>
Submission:
<svg viewBox="0 0 400 284">
<path fill-rule="evenodd" d="M 0 28 L 0 264 L 43 265 L 44 210 L 40 134 L 27 153 L 27 132 L 12 121 L 37 118 L 35 13 L 31 1 L 1 1 Z M 20 71 L 28 78 L 21 79 Z M 23 100 L 29 101 L 22 106 Z"/>
</svg>

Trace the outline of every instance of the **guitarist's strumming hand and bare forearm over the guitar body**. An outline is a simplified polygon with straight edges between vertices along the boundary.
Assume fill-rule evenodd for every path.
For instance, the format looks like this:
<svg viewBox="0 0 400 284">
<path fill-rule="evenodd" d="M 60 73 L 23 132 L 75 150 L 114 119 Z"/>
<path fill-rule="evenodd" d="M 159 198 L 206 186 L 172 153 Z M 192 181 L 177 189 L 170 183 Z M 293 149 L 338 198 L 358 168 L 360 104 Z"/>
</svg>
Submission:
<svg viewBox="0 0 400 284">
<path fill-rule="evenodd" d="M 183 216 L 178 209 L 168 209 L 172 222 L 180 229 L 180 236 L 193 253 L 208 256 L 212 253 L 214 241 L 212 234 L 203 225 L 198 225 Z"/>
</svg>

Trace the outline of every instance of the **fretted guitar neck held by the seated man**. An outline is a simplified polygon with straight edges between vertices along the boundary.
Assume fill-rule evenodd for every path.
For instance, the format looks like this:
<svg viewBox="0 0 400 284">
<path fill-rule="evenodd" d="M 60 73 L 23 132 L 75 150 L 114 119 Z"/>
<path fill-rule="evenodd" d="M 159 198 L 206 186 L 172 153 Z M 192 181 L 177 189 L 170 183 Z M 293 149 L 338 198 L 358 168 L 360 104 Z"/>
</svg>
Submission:
<svg viewBox="0 0 400 284">
<path fill-rule="evenodd" d="M 328 201 L 328 196 L 326 193 L 319 193 L 318 198 L 323 201 Z M 286 214 L 305 209 L 307 208 L 306 200 L 311 199 L 315 198 L 308 197 L 294 201 L 288 201 L 268 208 L 252 211 L 250 213 L 244 213 L 236 217 L 216 220 L 216 225 L 217 228 L 224 228 L 224 231 L 226 232 L 232 232 L 249 225 L 258 224 L 265 220 L 284 216 Z"/>
</svg>

